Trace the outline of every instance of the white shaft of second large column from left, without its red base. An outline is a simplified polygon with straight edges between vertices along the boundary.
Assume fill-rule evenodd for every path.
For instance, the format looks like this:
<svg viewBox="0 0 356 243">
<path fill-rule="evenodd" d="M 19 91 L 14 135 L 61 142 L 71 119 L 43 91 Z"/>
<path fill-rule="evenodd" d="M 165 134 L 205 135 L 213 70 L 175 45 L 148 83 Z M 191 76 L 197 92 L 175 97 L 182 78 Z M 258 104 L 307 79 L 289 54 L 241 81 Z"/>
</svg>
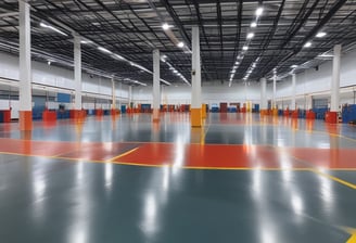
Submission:
<svg viewBox="0 0 356 243">
<path fill-rule="evenodd" d="M 80 37 L 74 35 L 74 110 L 81 110 L 81 50 Z"/>
</svg>

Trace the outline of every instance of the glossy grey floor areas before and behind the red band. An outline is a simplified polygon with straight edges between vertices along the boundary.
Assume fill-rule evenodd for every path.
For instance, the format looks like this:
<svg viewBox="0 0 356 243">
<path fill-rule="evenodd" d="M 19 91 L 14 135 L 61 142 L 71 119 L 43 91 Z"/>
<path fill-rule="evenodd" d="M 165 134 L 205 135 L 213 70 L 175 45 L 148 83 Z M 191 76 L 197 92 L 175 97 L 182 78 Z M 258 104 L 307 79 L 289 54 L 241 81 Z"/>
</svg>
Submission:
<svg viewBox="0 0 356 243">
<path fill-rule="evenodd" d="M 329 143 L 329 148 L 355 149 L 354 135 L 342 133 L 353 131 L 346 126 L 340 127 L 340 133 L 347 138 L 335 142 L 326 133 L 304 131 L 303 120 L 291 139 L 289 124 L 263 125 L 258 116 L 253 119 L 252 126 L 224 124 L 212 114 L 205 142 L 242 144 L 247 139 L 252 144 L 318 148 Z M 31 138 L 76 141 L 74 130 L 66 122 L 51 129 L 39 123 Z M 80 140 L 169 142 L 185 132 L 191 135 L 190 130 L 187 117 L 175 123 L 162 119 L 156 136 L 150 116 L 123 116 L 116 122 L 90 118 Z M 317 122 L 314 130 L 326 128 Z M 15 129 L 1 135 L 21 139 Z M 310 137 L 307 143 L 303 143 L 305 136 Z M 329 172 L 356 182 L 354 170 Z M 347 227 L 356 228 L 355 190 L 313 171 L 144 167 L 0 153 L 0 242 L 4 243 L 339 243 L 351 239 Z"/>
</svg>

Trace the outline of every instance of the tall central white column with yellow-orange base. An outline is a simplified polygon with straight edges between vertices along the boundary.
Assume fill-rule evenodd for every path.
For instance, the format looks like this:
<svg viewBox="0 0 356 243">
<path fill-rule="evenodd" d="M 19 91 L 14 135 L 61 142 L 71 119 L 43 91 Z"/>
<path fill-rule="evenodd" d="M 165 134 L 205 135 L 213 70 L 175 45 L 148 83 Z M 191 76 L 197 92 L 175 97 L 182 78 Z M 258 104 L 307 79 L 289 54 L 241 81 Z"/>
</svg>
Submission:
<svg viewBox="0 0 356 243">
<path fill-rule="evenodd" d="M 199 27 L 192 27 L 192 103 L 191 126 L 202 127 L 202 85 Z"/>
</svg>

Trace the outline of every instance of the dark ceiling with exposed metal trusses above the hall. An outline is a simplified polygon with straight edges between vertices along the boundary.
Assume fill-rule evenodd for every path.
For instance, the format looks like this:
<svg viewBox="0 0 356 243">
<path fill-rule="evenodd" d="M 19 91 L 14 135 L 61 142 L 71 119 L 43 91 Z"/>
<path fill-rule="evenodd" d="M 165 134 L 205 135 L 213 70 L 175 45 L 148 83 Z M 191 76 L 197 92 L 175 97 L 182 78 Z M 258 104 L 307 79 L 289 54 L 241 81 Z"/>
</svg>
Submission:
<svg viewBox="0 0 356 243">
<path fill-rule="evenodd" d="M 202 81 L 241 82 L 319 65 L 334 44 L 356 42 L 356 0 L 29 0 L 34 59 L 73 68 L 73 36 L 81 44 L 87 72 L 115 75 L 124 82 L 152 84 L 152 51 L 165 55 L 161 78 L 191 79 L 191 28 L 200 27 Z M 260 16 L 256 9 L 263 7 Z M 17 52 L 18 3 L 0 4 L 0 48 Z M 251 23 L 256 22 L 256 27 Z M 40 23 L 66 34 L 59 34 Z M 170 28 L 164 30 L 163 23 Z M 316 37 L 320 31 L 327 35 Z M 247 39 L 247 34 L 254 37 Z M 177 47 L 179 41 L 185 48 Z M 305 47 L 312 42 L 309 48 Z M 247 46 L 249 50 L 243 50 Z M 112 53 L 98 50 L 103 47 Z M 126 61 L 114 57 L 123 56 Z M 312 62 L 309 62 L 312 61 Z M 137 65 L 131 65 L 130 62 Z M 170 68 L 169 65 L 170 64 Z M 309 63 L 309 64 L 307 64 Z M 304 64 L 304 65 L 302 65 Z M 233 68 L 233 66 L 236 66 Z M 177 72 L 174 73 L 173 68 Z M 178 76 L 177 73 L 182 76 Z M 231 85 L 231 84 L 230 84 Z"/>
</svg>

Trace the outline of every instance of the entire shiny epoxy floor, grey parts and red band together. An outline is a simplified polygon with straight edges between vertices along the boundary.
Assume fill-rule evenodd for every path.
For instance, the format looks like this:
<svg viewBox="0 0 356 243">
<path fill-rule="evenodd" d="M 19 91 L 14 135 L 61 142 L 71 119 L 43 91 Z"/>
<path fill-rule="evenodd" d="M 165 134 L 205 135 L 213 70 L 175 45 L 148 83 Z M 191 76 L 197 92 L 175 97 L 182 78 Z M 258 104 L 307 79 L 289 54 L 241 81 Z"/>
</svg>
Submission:
<svg viewBox="0 0 356 243">
<path fill-rule="evenodd" d="M 0 124 L 0 242 L 356 242 L 356 127 L 189 119 Z"/>
</svg>

